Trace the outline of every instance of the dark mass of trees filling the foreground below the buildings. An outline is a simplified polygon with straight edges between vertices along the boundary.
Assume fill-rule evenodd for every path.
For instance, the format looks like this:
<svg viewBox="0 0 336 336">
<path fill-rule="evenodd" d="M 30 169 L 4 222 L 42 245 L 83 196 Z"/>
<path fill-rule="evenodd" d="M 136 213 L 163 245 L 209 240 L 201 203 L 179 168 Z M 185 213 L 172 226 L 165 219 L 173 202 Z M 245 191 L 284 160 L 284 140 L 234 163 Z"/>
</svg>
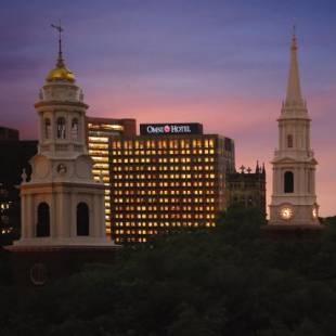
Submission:
<svg viewBox="0 0 336 336">
<path fill-rule="evenodd" d="M 38 290 L 2 284 L 8 335 L 336 335 L 336 222 L 311 240 L 270 240 L 257 209 L 216 229 L 128 246 L 111 266 Z"/>
</svg>

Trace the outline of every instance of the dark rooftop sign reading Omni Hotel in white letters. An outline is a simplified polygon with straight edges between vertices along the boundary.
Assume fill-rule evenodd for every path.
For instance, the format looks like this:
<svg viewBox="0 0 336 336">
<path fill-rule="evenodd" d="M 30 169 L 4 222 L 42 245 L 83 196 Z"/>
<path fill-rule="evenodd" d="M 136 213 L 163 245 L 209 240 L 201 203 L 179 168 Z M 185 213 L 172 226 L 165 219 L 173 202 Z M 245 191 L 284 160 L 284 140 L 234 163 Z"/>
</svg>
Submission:
<svg viewBox="0 0 336 336">
<path fill-rule="evenodd" d="M 141 135 L 203 134 L 203 125 L 191 124 L 140 124 Z"/>
</svg>

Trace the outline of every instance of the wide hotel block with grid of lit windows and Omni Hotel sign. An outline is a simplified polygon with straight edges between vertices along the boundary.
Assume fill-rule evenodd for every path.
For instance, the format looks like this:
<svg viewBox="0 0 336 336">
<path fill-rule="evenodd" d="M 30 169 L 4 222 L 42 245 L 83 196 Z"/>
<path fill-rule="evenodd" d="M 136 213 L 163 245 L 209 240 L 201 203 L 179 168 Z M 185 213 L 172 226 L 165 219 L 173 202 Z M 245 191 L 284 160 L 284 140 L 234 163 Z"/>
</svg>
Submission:
<svg viewBox="0 0 336 336">
<path fill-rule="evenodd" d="M 183 227 L 214 227 L 225 207 L 234 142 L 201 124 L 141 125 L 111 141 L 111 223 L 116 243 Z"/>
</svg>

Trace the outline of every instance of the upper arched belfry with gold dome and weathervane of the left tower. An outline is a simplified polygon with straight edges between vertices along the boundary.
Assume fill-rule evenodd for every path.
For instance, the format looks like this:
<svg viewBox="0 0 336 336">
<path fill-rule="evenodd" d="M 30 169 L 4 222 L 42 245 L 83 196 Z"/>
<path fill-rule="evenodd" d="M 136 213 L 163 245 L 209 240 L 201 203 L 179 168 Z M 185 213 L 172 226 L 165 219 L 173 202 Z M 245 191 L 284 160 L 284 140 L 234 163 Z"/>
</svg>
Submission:
<svg viewBox="0 0 336 336">
<path fill-rule="evenodd" d="M 76 156 L 86 153 L 86 111 L 81 89 L 74 74 L 65 66 L 62 54 L 62 31 L 59 31 L 59 56 L 40 90 L 35 107 L 39 114 L 39 153 L 52 156 Z"/>
</svg>

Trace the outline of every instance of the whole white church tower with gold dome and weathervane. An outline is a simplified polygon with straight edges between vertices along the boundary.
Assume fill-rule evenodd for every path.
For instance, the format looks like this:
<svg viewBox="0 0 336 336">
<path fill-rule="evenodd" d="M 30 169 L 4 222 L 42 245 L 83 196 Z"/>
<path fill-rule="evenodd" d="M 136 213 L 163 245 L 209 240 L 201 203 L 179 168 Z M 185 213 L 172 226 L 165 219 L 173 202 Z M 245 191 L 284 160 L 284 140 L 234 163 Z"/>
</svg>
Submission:
<svg viewBox="0 0 336 336">
<path fill-rule="evenodd" d="M 40 90 L 38 153 L 31 177 L 23 177 L 20 246 L 109 246 L 105 232 L 104 184 L 94 181 L 87 150 L 86 111 L 80 88 L 65 66 L 62 27 L 59 57 Z"/>
</svg>

